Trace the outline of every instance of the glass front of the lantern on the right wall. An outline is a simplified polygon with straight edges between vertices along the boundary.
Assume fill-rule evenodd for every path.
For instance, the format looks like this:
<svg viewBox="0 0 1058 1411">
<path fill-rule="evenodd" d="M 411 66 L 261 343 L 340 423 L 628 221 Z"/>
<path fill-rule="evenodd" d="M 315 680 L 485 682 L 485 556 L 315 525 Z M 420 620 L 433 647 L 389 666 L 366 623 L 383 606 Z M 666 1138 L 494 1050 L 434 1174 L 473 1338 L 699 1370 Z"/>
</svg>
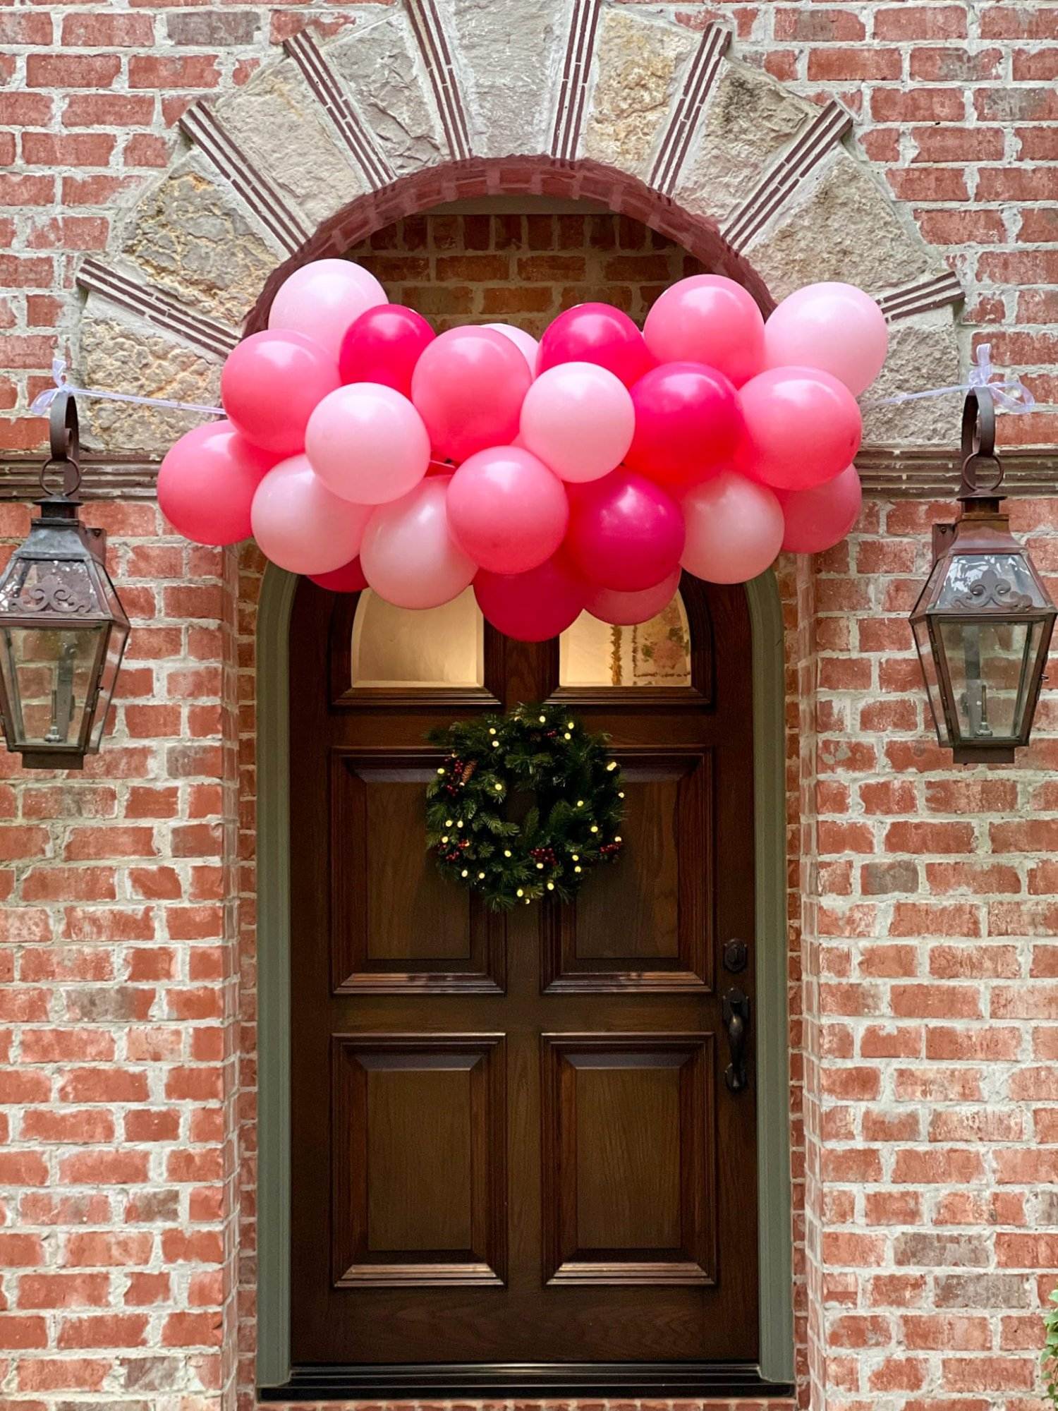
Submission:
<svg viewBox="0 0 1058 1411">
<path fill-rule="evenodd" d="M 995 618 L 940 625 L 962 741 L 1017 739 L 1041 631 L 1040 622 Z"/>
</svg>

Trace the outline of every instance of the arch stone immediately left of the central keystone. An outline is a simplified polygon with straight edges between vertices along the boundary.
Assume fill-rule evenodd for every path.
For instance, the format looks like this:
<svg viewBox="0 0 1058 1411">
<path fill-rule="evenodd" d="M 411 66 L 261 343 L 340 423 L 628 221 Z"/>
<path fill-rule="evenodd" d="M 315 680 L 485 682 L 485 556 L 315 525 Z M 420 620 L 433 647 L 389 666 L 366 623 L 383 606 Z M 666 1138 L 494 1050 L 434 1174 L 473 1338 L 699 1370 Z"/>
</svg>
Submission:
<svg viewBox="0 0 1058 1411">
<path fill-rule="evenodd" d="M 324 52 L 398 176 L 449 159 L 406 14 L 394 7 L 384 20 L 354 25 Z"/>
</svg>

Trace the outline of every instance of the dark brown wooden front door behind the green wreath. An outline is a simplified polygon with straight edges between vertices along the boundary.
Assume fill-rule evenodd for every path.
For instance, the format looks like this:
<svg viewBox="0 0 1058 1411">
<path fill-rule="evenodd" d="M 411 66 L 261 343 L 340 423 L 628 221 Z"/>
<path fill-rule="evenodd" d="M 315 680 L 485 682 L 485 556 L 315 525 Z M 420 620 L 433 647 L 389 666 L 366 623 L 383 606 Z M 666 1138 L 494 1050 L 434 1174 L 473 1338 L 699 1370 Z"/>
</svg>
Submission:
<svg viewBox="0 0 1058 1411">
<path fill-rule="evenodd" d="M 684 579 L 690 684 L 560 687 L 485 631 L 480 686 L 350 687 L 355 598 L 291 628 L 295 1363 L 749 1360 L 749 622 Z M 423 847 L 432 725 L 560 698 L 621 759 L 622 861 L 495 916 Z"/>
</svg>

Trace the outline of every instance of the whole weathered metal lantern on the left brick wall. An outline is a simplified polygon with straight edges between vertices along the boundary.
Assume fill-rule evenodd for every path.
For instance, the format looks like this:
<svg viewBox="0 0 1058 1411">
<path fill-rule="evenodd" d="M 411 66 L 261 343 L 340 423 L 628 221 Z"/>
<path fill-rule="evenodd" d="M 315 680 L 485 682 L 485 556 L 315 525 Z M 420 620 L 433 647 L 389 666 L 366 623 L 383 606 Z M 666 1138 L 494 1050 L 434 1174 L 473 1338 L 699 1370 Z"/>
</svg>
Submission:
<svg viewBox="0 0 1058 1411">
<path fill-rule="evenodd" d="M 78 409 L 51 408 L 41 512 L 0 577 L 0 715 L 27 769 L 80 769 L 103 737 L 128 638 L 106 570 L 106 533 L 80 523 Z M 52 492 L 49 476 L 62 476 Z"/>
</svg>

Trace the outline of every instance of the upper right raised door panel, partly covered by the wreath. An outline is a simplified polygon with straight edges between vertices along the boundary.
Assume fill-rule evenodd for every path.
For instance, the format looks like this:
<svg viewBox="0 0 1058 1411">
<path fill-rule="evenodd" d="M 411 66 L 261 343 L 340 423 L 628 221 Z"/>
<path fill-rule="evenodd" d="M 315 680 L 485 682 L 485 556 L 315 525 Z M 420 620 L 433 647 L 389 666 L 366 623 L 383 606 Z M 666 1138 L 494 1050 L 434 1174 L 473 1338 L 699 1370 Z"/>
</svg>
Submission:
<svg viewBox="0 0 1058 1411">
<path fill-rule="evenodd" d="M 712 752 L 616 751 L 625 852 L 576 906 L 542 913 L 546 991 L 708 991 L 712 976 Z"/>
</svg>

